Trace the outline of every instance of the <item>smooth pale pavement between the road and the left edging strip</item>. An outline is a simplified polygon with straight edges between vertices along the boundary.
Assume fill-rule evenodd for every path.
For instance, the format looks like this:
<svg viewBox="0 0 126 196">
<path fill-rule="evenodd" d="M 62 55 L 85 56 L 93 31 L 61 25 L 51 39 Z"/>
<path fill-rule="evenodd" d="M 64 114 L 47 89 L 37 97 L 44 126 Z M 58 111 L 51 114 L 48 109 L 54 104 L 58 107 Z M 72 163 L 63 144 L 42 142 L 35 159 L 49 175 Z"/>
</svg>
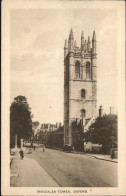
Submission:
<svg viewBox="0 0 126 196">
<path fill-rule="evenodd" d="M 24 157 L 19 164 L 19 187 L 58 186 L 35 160 Z"/>
</svg>

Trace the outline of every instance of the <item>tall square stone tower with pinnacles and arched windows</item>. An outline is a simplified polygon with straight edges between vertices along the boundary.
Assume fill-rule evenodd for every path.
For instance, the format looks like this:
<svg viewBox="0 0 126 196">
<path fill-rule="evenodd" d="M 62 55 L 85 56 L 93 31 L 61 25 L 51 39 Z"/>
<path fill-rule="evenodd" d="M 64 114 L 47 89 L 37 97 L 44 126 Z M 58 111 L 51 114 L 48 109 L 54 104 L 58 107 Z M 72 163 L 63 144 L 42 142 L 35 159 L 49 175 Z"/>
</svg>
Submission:
<svg viewBox="0 0 126 196">
<path fill-rule="evenodd" d="M 71 29 L 64 46 L 64 145 L 72 145 L 71 123 L 83 119 L 83 126 L 96 116 L 97 66 L 96 35 L 86 40 L 81 34 L 77 47 Z"/>
</svg>

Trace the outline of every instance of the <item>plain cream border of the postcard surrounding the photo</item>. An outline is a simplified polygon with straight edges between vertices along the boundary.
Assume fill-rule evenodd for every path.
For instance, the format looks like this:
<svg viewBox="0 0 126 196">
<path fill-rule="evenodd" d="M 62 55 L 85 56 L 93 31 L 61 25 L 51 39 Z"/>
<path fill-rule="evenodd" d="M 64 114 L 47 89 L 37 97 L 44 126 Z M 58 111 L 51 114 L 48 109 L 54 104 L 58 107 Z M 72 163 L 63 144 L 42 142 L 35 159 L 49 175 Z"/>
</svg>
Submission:
<svg viewBox="0 0 126 196">
<path fill-rule="evenodd" d="M 118 126 L 119 168 L 117 188 L 17 188 L 9 180 L 9 108 L 10 108 L 10 10 L 11 9 L 116 9 L 118 13 Z M 125 2 L 124 1 L 2 1 L 2 195 L 124 195 L 126 194 L 125 131 Z M 114 89 L 113 89 L 114 90 Z M 37 193 L 37 190 L 71 190 L 71 194 Z M 73 190 L 87 190 L 75 194 Z"/>
</svg>

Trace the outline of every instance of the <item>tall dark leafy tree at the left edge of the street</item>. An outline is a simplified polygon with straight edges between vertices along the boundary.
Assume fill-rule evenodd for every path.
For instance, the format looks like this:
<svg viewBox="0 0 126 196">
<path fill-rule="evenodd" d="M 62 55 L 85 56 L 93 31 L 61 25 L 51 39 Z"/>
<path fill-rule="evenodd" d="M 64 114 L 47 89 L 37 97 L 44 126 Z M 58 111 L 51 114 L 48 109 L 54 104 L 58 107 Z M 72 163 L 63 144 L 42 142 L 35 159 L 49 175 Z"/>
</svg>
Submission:
<svg viewBox="0 0 126 196">
<path fill-rule="evenodd" d="M 10 147 L 15 144 L 15 134 L 17 134 L 17 144 L 20 146 L 20 139 L 28 139 L 32 134 L 32 115 L 25 96 L 14 98 L 10 106 Z"/>
</svg>

